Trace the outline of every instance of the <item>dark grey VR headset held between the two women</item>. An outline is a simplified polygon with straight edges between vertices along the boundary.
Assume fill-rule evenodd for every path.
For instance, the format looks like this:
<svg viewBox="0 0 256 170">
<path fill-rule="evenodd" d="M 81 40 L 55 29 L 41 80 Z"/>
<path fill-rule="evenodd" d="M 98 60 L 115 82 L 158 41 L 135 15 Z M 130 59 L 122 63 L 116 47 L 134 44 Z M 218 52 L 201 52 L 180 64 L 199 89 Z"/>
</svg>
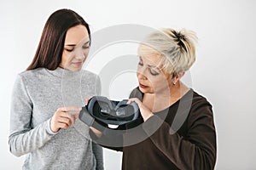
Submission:
<svg viewBox="0 0 256 170">
<path fill-rule="evenodd" d="M 94 96 L 87 105 L 82 107 L 79 119 L 89 127 L 96 127 L 98 130 L 103 130 L 104 127 L 116 128 L 133 122 L 140 111 L 136 102 L 127 104 L 127 101 L 127 99 L 114 101 L 103 96 Z"/>
</svg>

